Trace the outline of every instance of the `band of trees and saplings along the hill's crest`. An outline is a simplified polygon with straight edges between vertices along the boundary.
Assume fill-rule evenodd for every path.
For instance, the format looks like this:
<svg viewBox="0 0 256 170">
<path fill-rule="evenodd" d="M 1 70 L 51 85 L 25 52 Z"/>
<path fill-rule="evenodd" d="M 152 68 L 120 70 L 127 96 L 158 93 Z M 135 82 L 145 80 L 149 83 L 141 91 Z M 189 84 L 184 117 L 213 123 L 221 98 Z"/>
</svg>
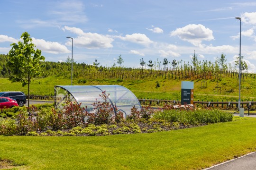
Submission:
<svg viewBox="0 0 256 170">
<path fill-rule="evenodd" d="M 151 61 L 151 60 L 150 60 Z M 143 61 L 144 62 L 144 61 Z M 167 64 L 166 64 L 167 62 Z M 8 68 L 8 55 L 0 54 L 0 77 L 9 77 L 11 71 Z M 96 62 L 95 62 L 96 63 Z M 170 67 L 168 68 L 168 63 Z M 52 62 L 44 61 L 44 73 L 42 77 L 47 76 L 71 76 L 71 59 L 66 62 Z M 221 77 L 234 77 L 238 78 L 238 71 L 236 68 L 227 66 L 225 63 L 197 59 L 192 60 L 192 64 L 184 61 L 168 62 L 165 59 L 164 68 L 161 62 L 155 64 L 149 62 L 146 68 L 146 62 L 141 68 L 125 68 L 119 65 L 111 67 L 98 67 L 96 65 L 89 65 L 85 63 L 73 62 L 73 77 L 82 80 L 87 79 L 119 79 L 121 80 L 137 80 L 144 78 L 163 78 L 163 79 L 219 79 Z M 242 73 L 242 78 L 256 78 L 255 73 Z"/>
</svg>

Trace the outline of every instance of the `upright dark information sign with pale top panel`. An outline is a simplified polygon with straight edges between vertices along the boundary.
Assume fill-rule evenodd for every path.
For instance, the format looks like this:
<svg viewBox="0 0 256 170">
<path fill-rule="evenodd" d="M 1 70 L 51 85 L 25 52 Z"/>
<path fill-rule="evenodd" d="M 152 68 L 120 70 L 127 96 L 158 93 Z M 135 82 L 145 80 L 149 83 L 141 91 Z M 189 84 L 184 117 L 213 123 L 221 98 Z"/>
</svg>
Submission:
<svg viewBox="0 0 256 170">
<path fill-rule="evenodd" d="M 182 81 L 181 104 L 194 104 L 194 82 Z"/>
</svg>

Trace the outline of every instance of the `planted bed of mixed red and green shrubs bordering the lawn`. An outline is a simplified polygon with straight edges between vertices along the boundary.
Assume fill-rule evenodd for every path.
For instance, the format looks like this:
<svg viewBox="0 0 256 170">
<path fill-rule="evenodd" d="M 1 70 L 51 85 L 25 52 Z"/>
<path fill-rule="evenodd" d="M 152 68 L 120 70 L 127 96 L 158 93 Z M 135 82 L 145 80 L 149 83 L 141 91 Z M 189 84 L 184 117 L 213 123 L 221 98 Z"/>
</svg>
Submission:
<svg viewBox="0 0 256 170">
<path fill-rule="evenodd" d="M 107 102 L 109 94 L 103 92 L 92 103 L 95 112 L 87 112 L 81 104 L 67 102 L 64 110 L 55 110 L 52 104 L 32 106 L 29 115 L 26 107 L 3 109 L 0 112 L 0 135 L 27 136 L 105 136 L 115 134 L 152 133 L 172 129 L 202 126 L 211 123 L 232 121 L 233 114 L 217 109 L 180 107 L 172 103 L 154 110 L 144 106 L 133 107 L 124 119 L 122 112 L 115 114 Z M 118 110 L 118 108 L 115 108 Z M 36 114 L 35 114 L 36 113 Z M 84 121 L 87 118 L 87 121 Z"/>
</svg>

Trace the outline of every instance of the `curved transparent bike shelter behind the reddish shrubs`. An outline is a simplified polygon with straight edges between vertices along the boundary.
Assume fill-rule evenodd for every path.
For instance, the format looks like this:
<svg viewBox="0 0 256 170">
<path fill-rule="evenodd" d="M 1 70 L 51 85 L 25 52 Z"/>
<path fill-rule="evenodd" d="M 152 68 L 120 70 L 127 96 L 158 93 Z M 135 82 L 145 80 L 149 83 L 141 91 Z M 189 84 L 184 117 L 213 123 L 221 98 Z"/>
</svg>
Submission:
<svg viewBox="0 0 256 170">
<path fill-rule="evenodd" d="M 126 87 L 121 85 L 55 85 L 55 108 L 62 109 L 66 102 L 81 103 L 81 107 L 87 111 L 94 111 L 92 103 L 97 101 L 104 102 L 100 97 L 102 92 L 110 94 L 108 102 L 118 110 L 115 113 L 122 111 L 126 118 L 130 115 L 131 108 L 135 106 L 138 110 L 141 105 L 137 97 Z"/>
</svg>

